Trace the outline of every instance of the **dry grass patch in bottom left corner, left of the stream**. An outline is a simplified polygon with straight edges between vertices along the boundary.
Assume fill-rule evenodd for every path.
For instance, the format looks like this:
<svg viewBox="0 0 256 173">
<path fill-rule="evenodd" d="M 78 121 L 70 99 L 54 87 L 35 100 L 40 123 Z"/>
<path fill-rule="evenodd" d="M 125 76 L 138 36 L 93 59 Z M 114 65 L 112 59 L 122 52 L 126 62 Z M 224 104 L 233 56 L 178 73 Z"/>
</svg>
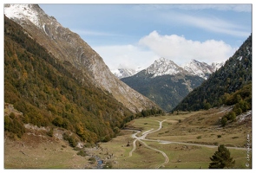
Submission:
<svg viewBox="0 0 256 173">
<path fill-rule="evenodd" d="M 89 166 L 88 157 L 76 155 L 65 141 L 23 135 L 23 141 L 6 138 L 4 141 L 4 168 L 75 168 Z"/>
</svg>

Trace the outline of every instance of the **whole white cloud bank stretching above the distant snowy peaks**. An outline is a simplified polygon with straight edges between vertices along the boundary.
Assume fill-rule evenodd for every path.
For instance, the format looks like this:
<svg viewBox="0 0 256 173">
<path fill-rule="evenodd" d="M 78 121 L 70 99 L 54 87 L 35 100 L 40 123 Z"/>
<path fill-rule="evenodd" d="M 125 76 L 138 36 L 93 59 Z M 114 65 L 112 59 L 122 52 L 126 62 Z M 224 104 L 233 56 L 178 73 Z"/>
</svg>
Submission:
<svg viewBox="0 0 256 173">
<path fill-rule="evenodd" d="M 95 46 L 95 51 L 102 56 L 110 70 L 118 67 L 146 68 L 155 60 L 165 57 L 182 65 L 195 59 L 208 64 L 226 61 L 236 48 L 222 41 L 205 42 L 187 40 L 185 36 L 159 35 L 153 31 L 144 36 L 135 45 Z"/>
</svg>

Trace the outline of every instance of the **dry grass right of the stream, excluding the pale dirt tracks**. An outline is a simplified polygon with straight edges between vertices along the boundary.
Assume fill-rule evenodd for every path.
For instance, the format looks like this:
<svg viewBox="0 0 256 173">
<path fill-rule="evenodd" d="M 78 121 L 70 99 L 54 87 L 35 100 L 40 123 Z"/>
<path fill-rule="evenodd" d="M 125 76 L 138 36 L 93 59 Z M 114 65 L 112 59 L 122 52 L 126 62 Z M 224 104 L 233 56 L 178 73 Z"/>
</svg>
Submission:
<svg viewBox="0 0 256 173">
<path fill-rule="evenodd" d="M 143 131 L 150 129 L 157 129 L 159 127 L 158 121 L 167 119 L 163 123 L 161 131 L 156 131 L 148 135 L 147 138 L 162 139 L 168 141 L 180 141 L 199 144 L 226 144 L 230 146 L 244 147 L 246 145 L 247 134 L 252 134 L 251 122 L 244 125 L 227 125 L 225 128 L 220 128 L 218 125 L 219 118 L 224 115 L 226 108 L 211 109 L 201 112 L 183 112 L 179 115 L 167 115 L 161 117 L 149 117 L 144 119 L 135 119 L 129 123 L 131 127 L 142 128 Z M 179 123 L 181 119 L 181 123 Z M 129 140 L 130 136 L 127 136 Z M 115 141 L 125 140 L 124 137 L 117 137 Z M 113 141 L 114 142 L 114 141 Z M 164 165 L 164 168 L 169 169 L 207 169 L 211 160 L 209 157 L 217 151 L 215 148 L 208 148 L 203 146 L 193 146 L 185 144 L 159 144 L 157 142 L 146 143 L 158 150 L 164 151 L 169 157 L 169 163 Z M 102 144 L 107 146 L 108 150 L 113 144 Z M 116 148 L 116 146 L 115 146 Z M 132 150 L 132 147 L 128 148 Z M 246 151 L 230 149 L 231 157 L 236 161 L 235 168 L 246 169 Z M 128 151 L 127 151 L 128 153 Z M 150 160 L 149 158 L 157 158 Z M 251 156 L 250 156 L 251 157 Z M 118 158 L 118 157 L 117 157 Z M 144 159 L 147 159 L 143 163 Z M 178 162 L 178 161 L 181 162 Z M 119 159 L 118 165 L 114 168 L 152 168 L 148 167 L 148 163 L 154 167 L 164 162 L 164 157 L 161 153 L 141 147 L 136 150 L 133 157 L 122 157 Z M 251 168 L 251 167 L 249 167 Z"/>
</svg>

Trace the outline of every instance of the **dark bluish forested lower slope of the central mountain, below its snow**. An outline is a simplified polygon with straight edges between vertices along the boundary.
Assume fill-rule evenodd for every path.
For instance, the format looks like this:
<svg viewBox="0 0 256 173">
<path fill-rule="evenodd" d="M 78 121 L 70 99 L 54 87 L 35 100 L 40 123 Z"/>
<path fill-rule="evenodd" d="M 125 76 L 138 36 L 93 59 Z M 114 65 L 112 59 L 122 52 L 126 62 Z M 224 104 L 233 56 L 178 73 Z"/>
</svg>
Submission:
<svg viewBox="0 0 256 173">
<path fill-rule="evenodd" d="M 192 89 L 200 86 L 204 79 L 199 76 L 182 74 L 161 75 L 152 78 L 152 74 L 145 74 L 145 70 L 143 70 L 121 80 L 153 100 L 165 112 L 171 112 L 174 106 L 177 106 Z"/>
</svg>

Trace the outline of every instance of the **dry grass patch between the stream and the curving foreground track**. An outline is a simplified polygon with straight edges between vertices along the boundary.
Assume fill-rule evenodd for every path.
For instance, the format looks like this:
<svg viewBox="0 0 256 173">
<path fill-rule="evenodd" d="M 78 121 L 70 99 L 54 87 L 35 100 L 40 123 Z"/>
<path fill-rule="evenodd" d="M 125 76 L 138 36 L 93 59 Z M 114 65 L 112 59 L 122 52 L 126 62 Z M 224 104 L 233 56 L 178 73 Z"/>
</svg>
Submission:
<svg viewBox="0 0 256 173">
<path fill-rule="evenodd" d="M 102 151 L 97 151 L 96 154 L 102 159 L 112 161 L 115 164 L 113 168 L 156 168 L 159 161 L 164 162 L 164 157 L 161 153 L 151 151 L 140 142 L 136 142 L 137 149 L 133 152 L 132 157 L 129 157 L 129 152 L 133 149 L 133 138 L 130 138 L 132 131 L 127 135 L 113 138 L 108 143 L 100 144 Z M 127 146 L 128 141 L 130 146 Z M 108 154 L 114 153 L 114 157 L 107 159 Z"/>
</svg>

